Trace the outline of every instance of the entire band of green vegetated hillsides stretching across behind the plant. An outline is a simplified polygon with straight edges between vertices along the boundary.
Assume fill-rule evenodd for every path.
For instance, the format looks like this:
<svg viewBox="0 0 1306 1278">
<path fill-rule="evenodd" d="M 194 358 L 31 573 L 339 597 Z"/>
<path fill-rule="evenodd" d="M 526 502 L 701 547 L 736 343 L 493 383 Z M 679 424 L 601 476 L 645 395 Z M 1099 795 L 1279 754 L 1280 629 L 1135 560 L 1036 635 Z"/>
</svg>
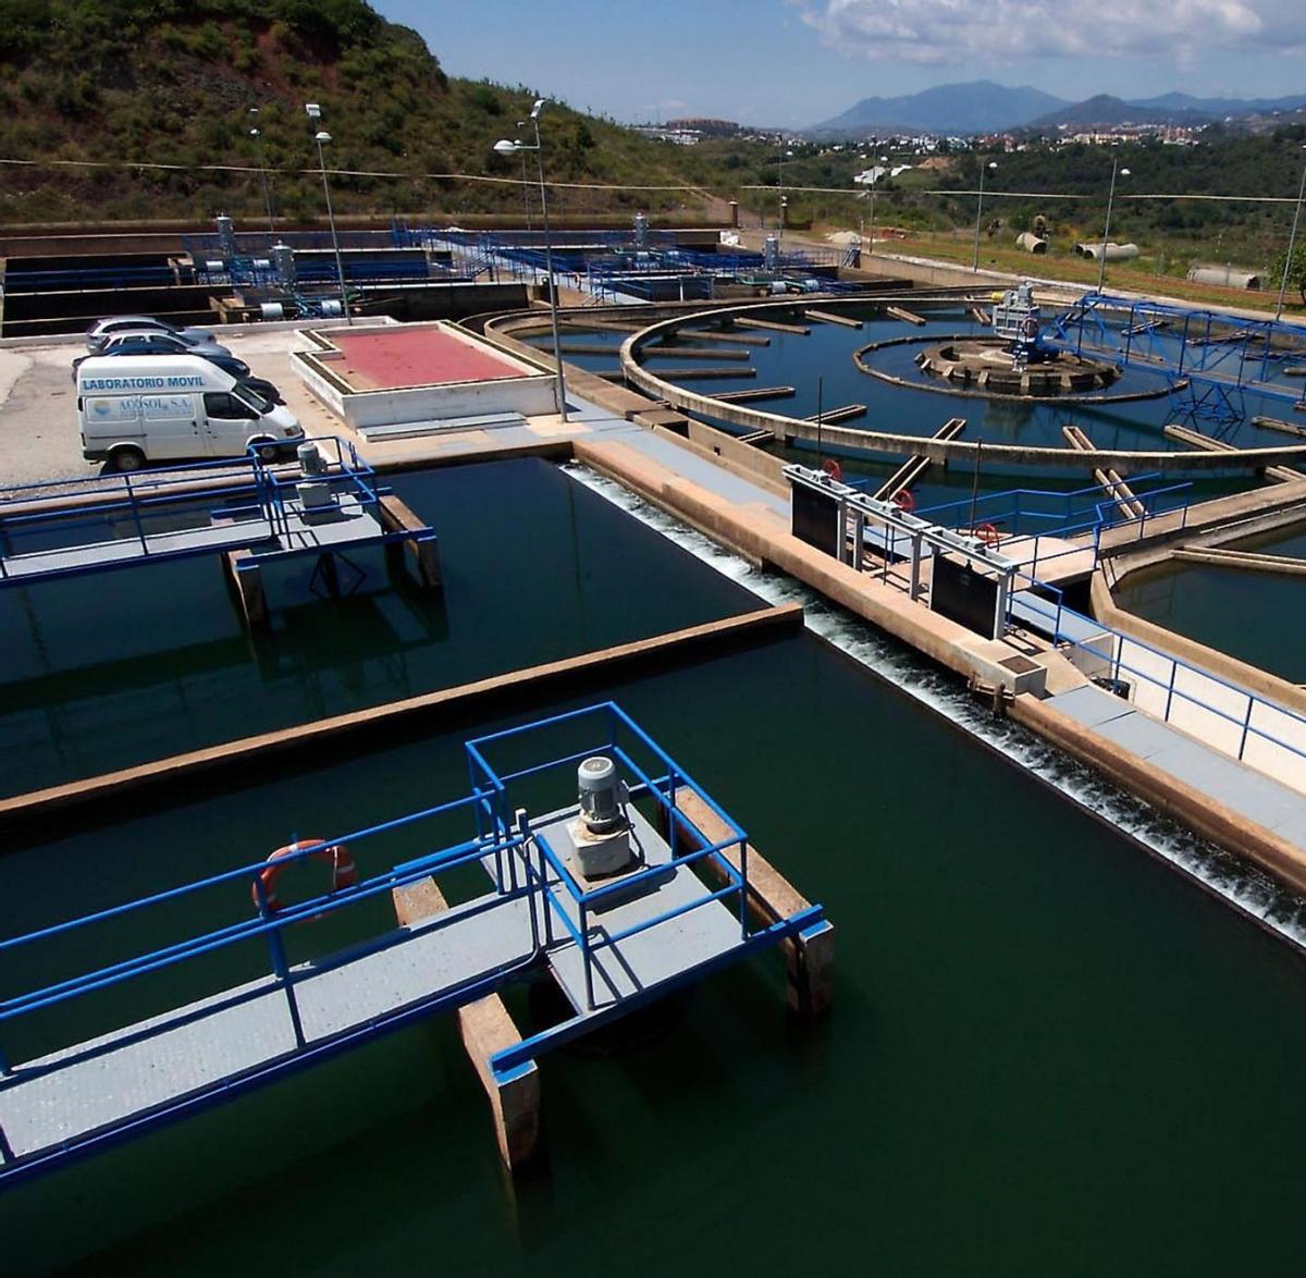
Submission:
<svg viewBox="0 0 1306 1278">
<path fill-rule="evenodd" d="M 516 220 L 521 159 L 492 148 L 518 132 L 547 88 L 451 77 L 422 37 L 364 0 L 0 0 L 0 225 L 196 223 L 218 212 L 257 225 L 265 217 L 263 165 L 278 218 L 320 221 L 306 102 L 321 103 L 333 139 L 332 195 L 346 218 Z M 972 235 L 976 201 L 961 192 L 976 187 L 981 163 L 999 165 L 985 210 L 986 226 L 1000 222 L 993 247 L 1042 216 L 1060 256 L 1101 233 L 1115 154 L 1132 178 L 1122 183 L 1113 237 L 1140 244 L 1140 267 L 1171 276 L 1194 261 L 1275 270 L 1306 128 L 1249 136 L 1216 125 L 1202 137 L 1199 146 L 1113 150 L 1047 140 L 1015 153 L 961 150 L 926 161 L 892 145 L 774 136 L 677 146 L 551 103 L 545 161 L 559 214 L 624 220 L 644 208 L 721 220 L 726 200 L 737 197 L 746 225 L 774 226 L 782 186 L 789 226 L 815 223 L 820 233 L 870 221 L 868 192 L 853 178 L 883 149 L 895 166 L 913 167 L 880 183 L 876 225 L 925 235 L 944 255 L 956 238 L 956 255 L 968 257 L 961 240 Z M 533 180 L 533 162 L 529 172 Z M 431 176 L 440 174 L 470 176 Z M 477 180 L 485 178 L 499 180 Z M 1288 203 L 1132 200 L 1139 191 Z"/>
</svg>

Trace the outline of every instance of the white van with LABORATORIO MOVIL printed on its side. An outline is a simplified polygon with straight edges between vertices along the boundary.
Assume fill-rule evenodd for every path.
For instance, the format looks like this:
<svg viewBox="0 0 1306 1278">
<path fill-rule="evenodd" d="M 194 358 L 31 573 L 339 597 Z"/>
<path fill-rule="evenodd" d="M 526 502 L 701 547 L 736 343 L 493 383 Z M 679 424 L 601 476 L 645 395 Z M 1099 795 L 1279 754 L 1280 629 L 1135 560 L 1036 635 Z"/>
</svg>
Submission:
<svg viewBox="0 0 1306 1278">
<path fill-rule="evenodd" d="M 199 355 L 91 355 L 77 366 L 82 456 L 118 470 L 204 457 L 293 453 L 304 429 L 283 405 Z"/>
</svg>

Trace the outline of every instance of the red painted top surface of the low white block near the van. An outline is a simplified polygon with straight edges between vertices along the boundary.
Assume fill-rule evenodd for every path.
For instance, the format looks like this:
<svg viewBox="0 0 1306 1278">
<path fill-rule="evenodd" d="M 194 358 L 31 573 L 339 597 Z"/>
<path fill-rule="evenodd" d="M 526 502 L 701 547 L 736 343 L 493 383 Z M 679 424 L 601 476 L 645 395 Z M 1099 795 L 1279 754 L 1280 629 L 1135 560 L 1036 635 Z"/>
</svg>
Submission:
<svg viewBox="0 0 1306 1278">
<path fill-rule="evenodd" d="M 400 328 L 388 333 L 333 332 L 330 342 L 345 357 L 332 363 L 332 371 L 343 375 L 355 391 L 397 391 L 410 385 L 528 376 L 507 359 L 478 350 L 438 328 Z"/>
</svg>

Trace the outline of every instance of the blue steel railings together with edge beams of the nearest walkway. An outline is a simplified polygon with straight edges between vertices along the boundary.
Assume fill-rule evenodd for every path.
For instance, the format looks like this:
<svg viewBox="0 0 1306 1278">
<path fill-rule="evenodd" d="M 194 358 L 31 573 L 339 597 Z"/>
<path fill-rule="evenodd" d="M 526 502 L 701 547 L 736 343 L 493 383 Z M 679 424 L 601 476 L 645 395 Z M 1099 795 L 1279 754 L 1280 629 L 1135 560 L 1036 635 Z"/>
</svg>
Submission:
<svg viewBox="0 0 1306 1278">
<path fill-rule="evenodd" d="M 582 746 L 582 749 L 577 749 Z M 563 754 L 555 751 L 562 749 Z M 119 1018 L 123 1004 L 140 989 L 145 1000 L 145 1015 L 128 1021 L 116 1035 L 138 1049 L 141 1044 L 162 1039 L 180 1023 L 191 1027 L 210 1015 L 214 1004 L 219 1010 L 229 1006 L 223 1000 L 248 1001 L 269 998 L 283 1004 L 279 1015 L 289 1014 L 295 1028 L 295 1045 L 289 1051 L 274 1049 L 266 1060 L 257 1060 L 232 1077 L 210 1079 L 205 1086 L 180 1090 L 166 1103 L 154 1103 L 142 1111 L 133 1111 L 131 1100 L 121 1103 L 121 1113 L 112 1122 L 99 1122 L 85 1132 L 64 1133 L 48 1147 L 24 1150 L 10 1141 L 0 1128 L 0 1183 L 48 1171 L 68 1159 L 93 1154 L 106 1146 L 128 1139 L 153 1126 L 168 1124 L 189 1113 L 212 1107 L 244 1090 L 261 1086 L 298 1069 L 313 1065 L 340 1052 L 364 1043 L 434 1011 L 451 1010 L 502 988 L 517 979 L 525 979 L 530 970 L 547 962 L 560 949 L 576 947 L 581 951 L 586 974 L 589 1006 L 577 1006 L 576 1014 L 560 1024 L 534 1034 L 518 1044 L 496 1052 L 491 1068 L 500 1081 L 516 1077 L 530 1066 L 539 1055 L 598 1024 L 626 1015 L 650 1000 L 665 996 L 687 983 L 701 979 L 710 971 L 738 962 L 756 950 L 774 946 L 786 937 L 814 934 L 829 924 L 820 906 L 806 907 L 794 915 L 757 924 L 750 915 L 752 890 L 748 881 L 748 847 L 742 827 L 717 805 L 708 793 L 662 747 L 653 741 L 619 706 L 605 702 L 585 710 L 556 715 L 524 727 L 494 733 L 466 742 L 470 792 L 449 802 L 438 804 L 421 811 L 409 813 L 363 830 L 351 831 L 324 840 L 328 845 L 347 847 L 359 866 L 355 883 L 338 890 L 311 896 L 307 900 L 277 907 L 270 902 L 265 872 L 268 862 L 256 860 L 234 869 L 176 886 L 161 887 L 157 893 L 99 909 L 90 915 L 69 919 L 22 936 L 0 941 L 0 963 L 9 972 L 18 970 L 25 957 L 51 950 L 67 954 L 98 949 L 97 929 L 118 929 L 118 940 L 124 934 L 149 934 L 158 928 L 158 916 L 180 907 L 184 919 L 202 915 L 206 924 L 196 932 L 163 946 L 132 950 L 125 957 L 101 963 L 55 981 L 0 1001 L 0 1035 L 13 1038 L 14 1027 L 50 1009 L 64 1008 L 76 1011 L 95 994 L 112 991 Z M 585 887 L 575 879 L 558 851 L 547 839 L 535 834 L 528 815 L 530 798 L 559 792 L 563 779 L 569 793 L 575 793 L 575 767 L 590 754 L 606 754 L 618 763 L 619 772 L 629 787 L 631 801 L 652 806 L 661 814 L 669 831 L 671 860 L 654 868 L 623 876 L 620 883 Z M 693 795 L 716 815 L 726 834 L 720 840 L 709 839 L 680 806 L 686 795 Z M 564 809 L 575 813 L 576 809 Z M 555 813 L 554 817 L 558 814 Z M 460 822 L 465 827 L 461 839 L 443 842 L 435 851 L 404 855 L 400 849 L 430 848 L 430 840 L 441 831 L 452 831 Z M 444 836 L 448 839 L 448 835 Z M 679 851 L 687 847 L 688 851 Z M 733 855 L 730 855 L 733 853 Z M 310 848 L 299 848 L 279 859 L 281 865 L 294 866 L 313 856 Z M 398 887 L 423 879 L 436 879 L 465 866 L 479 865 L 488 876 L 491 891 L 466 906 L 454 907 L 432 916 L 427 930 L 396 928 L 355 942 L 347 949 L 323 954 L 308 963 L 291 963 L 287 941 L 293 929 L 326 917 L 364 911 L 366 903 L 375 903 Z M 666 876 L 670 870 L 701 866 L 714 870 L 721 887 L 700 883 L 701 893 L 673 909 L 658 908 L 657 894 L 646 916 L 622 932 L 611 933 L 603 925 L 592 925 L 590 911 L 599 907 L 613 893 L 639 889 L 650 876 Z M 565 899 L 564 899 L 565 898 Z M 652 933 L 665 924 L 682 919 L 697 909 L 712 908 L 714 903 L 727 904 L 738 919 L 738 943 L 725 949 L 705 962 L 686 964 L 674 975 L 637 988 L 629 997 L 609 1002 L 596 1009 L 590 988 L 590 968 L 602 949 L 620 945 L 636 933 Z M 522 911 L 524 907 L 524 911 Z M 496 913 L 503 912 L 503 913 Z M 579 912 L 579 913 L 577 913 Z M 418 943 L 418 937 L 430 936 L 432 929 L 452 929 L 469 919 L 502 917 L 504 929 L 516 928 L 518 936 L 505 953 L 515 954 L 512 962 L 491 964 L 471 975 L 441 984 L 435 976 L 419 997 L 407 998 L 388 1008 L 384 1014 L 367 1015 L 362 1022 L 342 1024 L 337 1032 L 321 1038 L 304 1034 L 298 993 L 324 972 L 342 972 L 350 964 L 370 960 Z M 579 919 L 579 921 L 577 921 Z M 372 924 L 375 926 L 375 923 Z M 192 924 L 193 926 L 193 924 Z M 427 926 L 423 924 L 423 926 Z M 302 930 L 296 934 L 302 936 Z M 205 994 L 199 1002 L 187 1002 L 172 1013 L 158 1015 L 150 1006 L 150 980 L 168 970 L 200 968 L 199 977 L 205 984 L 215 977 L 223 954 L 238 946 L 248 954 L 251 942 L 266 946 L 268 975 L 255 987 L 248 984 L 223 988 Z M 673 949 L 679 943 L 667 937 L 663 945 Z M 121 950 L 108 950 L 121 953 Z M 218 960 L 217 964 L 214 960 Z M 232 962 L 235 962 L 232 959 Z M 243 971 L 243 970 L 242 970 Z M 154 987 L 157 989 L 157 987 Z M 251 991 L 253 991 L 251 993 Z M 584 1002 L 584 1001 L 582 1001 Z M 65 1018 L 72 1019 L 72 1018 Z M 103 1087 L 104 1072 L 111 1070 L 112 1055 L 118 1051 L 114 1034 L 103 1035 L 95 1026 L 90 1041 L 74 1041 L 52 1055 L 42 1055 L 27 1062 L 5 1058 L 0 1052 L 0 1111 L 7 1099 L 17 1092 L 21 1099 L 24 1085 L 47 1079 L 63 1079 L 68 1072 L 88 1058 L 99 1062 L 97 1086 Z M 138 1058 L 137 1058 L 138 1068 Z M 43 1083 L 44 1085 L 44 1083 Z M 48 1104 L 50 1091 L 44 1091 Z M 135 1102 L 140 1104 L 140 1102 Z M 12 1109 L 9 1112 L 13 1112 Z M 63 1120 L 59 1120 L 63 1122 Z"/>
</svg>

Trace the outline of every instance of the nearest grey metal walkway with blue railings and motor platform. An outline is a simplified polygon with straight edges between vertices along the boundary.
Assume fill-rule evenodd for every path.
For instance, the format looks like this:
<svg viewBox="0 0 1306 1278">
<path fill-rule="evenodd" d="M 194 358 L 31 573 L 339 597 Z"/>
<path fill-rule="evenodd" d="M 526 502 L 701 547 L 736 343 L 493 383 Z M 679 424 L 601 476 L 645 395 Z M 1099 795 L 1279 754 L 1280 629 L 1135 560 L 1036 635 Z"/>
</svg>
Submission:
<svg viewBox="0 0 1306 1278">
<path fill-rule="evenodd" d="M 598 1023 L 754 950 L 828 926 L 819 906 L 769 925 L 752 923 L 743 830 L 613 703 L 482 737 L 465 749 L 468 796 L 277 859 L 278 868 L 295 877 L 304 861 L 333 859 L 336 848 L 347 848 L 347 857 L 342 853 L 332 868 L 338 878 L 342 861 L 357 859 L 366 870 L 357 882 L 281 907 L 268 862 L 256 861 L 0 942 L 4 967 L 18 972 L 29 955 L 42 970 L 52 953 L 76 953 L 77 946 L 119 953 L 124 934 L 157 932 L 170 909 L 180 908 L 192 920 L 201 916 L 209 928 L 7 998 L 0 1002 L 0 1036 L 12 1036 L 5 1031 L 27 1018 L 37 1023 L 29 1022 L 26 1035 L 52 1032 L 54 1009 L 65 1026 L 103 1015 L 98 1000 L 104 997 L 112 997 L 119 1011 L 140 989 L 136 983 L 148 987 L 138 997 L 157 998 L 158 974 L 185 964 L 193 972 L 197 960 L 212 974 L 214 960 L 221 966 L 236 946 L 244 946 L 239 953 L 247 962 L 251 942 L 261 941 L 270 959 L 265 976 L 112 1032 L 77 1040 L 72 1030 L 74 1041 L 22 1062 L 0 1056 L 0 1183 L 94 1153 L 547 970 L 575 1014 L 492 1056 L 495 1075 L 508 1079 Z M 565 826 L 579 808 L 554 810 L 533 827 L 518 805 L 522 788 L 535 796 L 542 789 L 575 793 L 576 764 L 593 754 L 613 759 L 628 787 L 637 853 L 633 869 L 598 886 L 581 879 L 569 857 Z M 500 758 L 516 768 L 507 770 Z M 678 800 L 690 796 L 725 823 L 722 842 L 709 842 L 684 814 Z M 414 845 L 430 847 L 436 831 L 453 821 L 470 827 L 470 836 L 417 857 L 401 856 Z M 674 831 L 670 842 L 656 823 Z M 682 840 L 695 851 L 678 852 Z M 724 886 L 699 878 L 695 866 L 708 869 L 709 859 Z M 477 899 L 351 947 L 287 963 L 287 929 L 298 929 L 296 943 L 304 943 L 316 920 L 475 865 L 491 885 Z M 95 940 L 99 929 L 108 932 L 103 949 Z"/>
</svg>

